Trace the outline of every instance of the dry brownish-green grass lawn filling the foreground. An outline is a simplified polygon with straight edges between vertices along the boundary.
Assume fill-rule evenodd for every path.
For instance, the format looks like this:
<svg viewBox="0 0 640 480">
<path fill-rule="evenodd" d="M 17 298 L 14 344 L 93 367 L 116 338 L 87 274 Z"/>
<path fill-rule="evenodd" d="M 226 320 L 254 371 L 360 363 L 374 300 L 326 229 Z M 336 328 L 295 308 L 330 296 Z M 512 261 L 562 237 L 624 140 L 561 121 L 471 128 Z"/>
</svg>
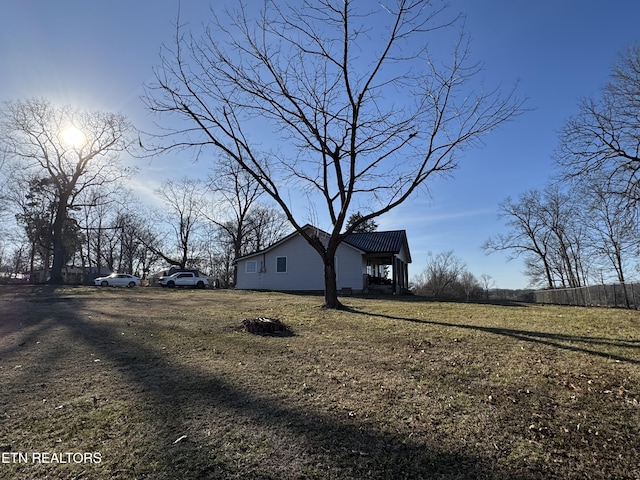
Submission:
<svg viewBox="0 0 640 480">
<path fill-rule="evenodd" d="M 0 478 L 640 478 L 639 312 L 321 300 L 0 287 Z"/>
</svg>

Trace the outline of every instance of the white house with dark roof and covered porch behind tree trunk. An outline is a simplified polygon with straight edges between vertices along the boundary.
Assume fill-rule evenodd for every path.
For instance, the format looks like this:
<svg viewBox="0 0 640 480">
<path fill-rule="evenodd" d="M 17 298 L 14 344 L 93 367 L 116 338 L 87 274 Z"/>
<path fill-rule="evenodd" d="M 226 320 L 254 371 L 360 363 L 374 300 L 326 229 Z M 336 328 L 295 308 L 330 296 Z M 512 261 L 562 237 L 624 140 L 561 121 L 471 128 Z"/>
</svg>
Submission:
<svg viewBox="0 0 640 480">
<path fill-rule="evenodd" d="M 303 227 L 320 239 L 329 234 Z M 236 288 L 241 290 L 324 290 L 320 255 L 297 232 L 270 247 L 235 260 Z M 352 233 L 336 252 L 338 291 L 402 293 L 409 285 L 411 254 L 404 230 Z"/>
</svg>

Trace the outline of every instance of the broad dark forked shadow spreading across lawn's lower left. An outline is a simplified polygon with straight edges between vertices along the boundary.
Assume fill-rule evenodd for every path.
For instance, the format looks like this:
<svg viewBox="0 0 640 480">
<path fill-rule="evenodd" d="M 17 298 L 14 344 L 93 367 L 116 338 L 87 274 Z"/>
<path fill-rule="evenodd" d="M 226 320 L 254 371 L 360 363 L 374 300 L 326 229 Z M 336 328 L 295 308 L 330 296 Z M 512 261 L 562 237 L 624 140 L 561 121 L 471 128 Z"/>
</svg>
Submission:
<svg viewBox="0 0 640 480">
<path fill-rule="evenodd" d="M 83 304 L 83 299 L 59 303 L 48 323 L 35 329 L 29 341 L 46 335 L 54 325 L 65 327 L 69 341 L 91 347 L 103 358 L 103 364 L 113 365 L 142 396 L 144 410 L 153 412 L 155 418 L 148 425 L 152 427 L 148 434 L 154 438 L 153 451 L 138 452 L 134 462 L 122 464 L 117 458 L 103 458 L 101 468 L 109 469 L 111 478 L 533 478 L 514 475 L 492 459 L 474 456 L 470 449 L 465 451 L 462 445 L 451 452 L 438 445 L 416 443 L 397 434 L 376 431 L 357 419 L 341 420 L 335 415 L 288 406 L 197 366 L 162 361 L 168 357 L 160 347 L 123 338 L 115 328 L 82 318 L 79 312 Z M 0 352 L 3 358 L 7 353 L 11 354 Z M 43 377 L 60 374 L 59 360 L 43 360 L 48 368 Z M 275 458 L 269 458 L 269 463 L 261 467 L 254 459 L 243 458 L 247 454 L 241 446 L 233 457 L 220 455 L 197 439 L 176 444 L 175 440 L 185 432 L 190 436 L 195 433 L 190 430 L 194 421 L 216 421 L 200 418 L 194 406 L 202 407 L 201 415 L 212 411 L 214 417 L 230 415 L 237 424 L 281 432 L 290 439 L 291 452 L 276 452 Z M 245 450 L 251 451 L 251 447 Z M 287 462 L 296 463 L 295 472 L 287 470 Z"/>
</svg>

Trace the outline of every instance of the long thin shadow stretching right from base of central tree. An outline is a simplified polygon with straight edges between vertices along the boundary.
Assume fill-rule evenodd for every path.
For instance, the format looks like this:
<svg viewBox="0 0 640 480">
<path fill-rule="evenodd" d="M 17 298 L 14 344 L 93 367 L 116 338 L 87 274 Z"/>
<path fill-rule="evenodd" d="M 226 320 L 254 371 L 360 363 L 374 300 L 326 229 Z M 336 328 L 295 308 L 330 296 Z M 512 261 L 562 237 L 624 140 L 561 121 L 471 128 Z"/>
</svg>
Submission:
<svg viewBox="0 0 640 480">
<path fill-rule="evenodd" d="M 493 335 L 505 336 L 514 338 L 516 340 L 522 340 L 525 342 L 539 343 L 555 347 L 561 350 L 569 350 L 573 352 L 585 353 L 596 357 L 607 358 L 611 360 L 618 360 L 620 362 L 627 362 L 635 365 L 640 365 L 640 360 L 622 355 L 599 351 L 593 348 L 586 348 L 576 345 L 576 343 L 582 343 L 587 345 L 601 345 L 605 347 L 614 348 L 628 348 L 640 351 L 640 340 L 623 340 L 623 339 L 611 339 L 607 337 L 594 337 L 588 335 L 566 335 L 561 333 L 546 333 L 546 332 L 534 332 L 529 330 L 517 330 L 512 328 L 500 328 L 500 327 L 483 327 L 478 325 L 468 325 L 464 323 L 453 322 L 439 322 L 436 320 L 424 320 L 419 318 L 410 317 L 398 317 L 394 315 L 388 315 L 383 313 L 368 312 L 366 310 L 359 310 L 356 308 L 348 308 L 348 311 L 358 315 L 366 315 L 368 317 L 381 317 L 389 320 L 398 320 L 402 322 L 420 323 L 425 325 L 437 325 L 442 327 L 460 328 L 465 330 L 475 330 L 478 332 L 490 333 Z M 561 343 L 567 342 L 567 343 Z"/>
</svg>

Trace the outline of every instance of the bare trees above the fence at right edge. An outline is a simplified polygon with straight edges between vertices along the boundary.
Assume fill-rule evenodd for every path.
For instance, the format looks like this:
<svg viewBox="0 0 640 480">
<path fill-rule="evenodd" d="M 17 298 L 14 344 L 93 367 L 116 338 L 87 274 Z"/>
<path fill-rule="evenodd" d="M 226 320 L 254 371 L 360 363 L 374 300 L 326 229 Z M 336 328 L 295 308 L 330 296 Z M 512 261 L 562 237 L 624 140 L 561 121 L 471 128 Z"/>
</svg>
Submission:
<svg viewBox="0 0 640 480">
<path fill-rule="evenodd" d="M 573 288 L 637 278 L 640 236 L 640 46 L 623 52 L 596 97 L 563 126 L 556 172 L 499 206 L 507 232 L 486 252 L 524 260 L 533 286 Z"/>
</svg>

